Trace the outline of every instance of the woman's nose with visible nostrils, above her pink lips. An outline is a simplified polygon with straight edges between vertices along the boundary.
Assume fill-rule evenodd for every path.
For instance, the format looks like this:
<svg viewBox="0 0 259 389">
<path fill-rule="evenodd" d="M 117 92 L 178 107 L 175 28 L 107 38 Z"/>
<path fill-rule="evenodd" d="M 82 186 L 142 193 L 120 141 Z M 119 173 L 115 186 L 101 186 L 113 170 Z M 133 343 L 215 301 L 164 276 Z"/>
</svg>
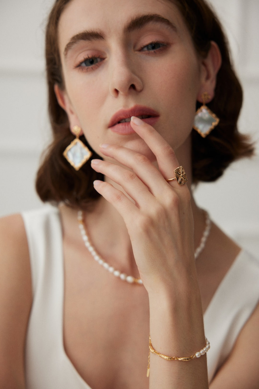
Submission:
<svg viewBox="0 0 259 389">
<path fill-rule="evenodd" d="M 137 64 L 134 58 L 129 58 L 126 54 L 120 54 L 113 58 L 111 62 L 110 93 L 113 97 L 118 95 L 127 96 L 132 91 L 141 92 L 143 82 L 136 74 Z"/>
</svg>

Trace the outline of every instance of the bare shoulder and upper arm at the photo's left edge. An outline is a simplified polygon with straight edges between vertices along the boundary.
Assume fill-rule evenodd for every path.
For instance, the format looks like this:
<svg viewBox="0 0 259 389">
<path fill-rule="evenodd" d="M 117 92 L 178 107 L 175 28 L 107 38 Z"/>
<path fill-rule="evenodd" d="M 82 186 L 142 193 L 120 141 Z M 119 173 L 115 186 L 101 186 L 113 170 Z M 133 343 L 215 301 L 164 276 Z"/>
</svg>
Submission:
<svg viewBox="0 0 259 389">
<path fill-rule="evenodd" d="M 22 216 L 0 219 L 0 386 L 24 385 L 24 345 L 32 302 L 29 249 Z M 12 387 L 12 385 L 10 386 Z M 14 386 L 15 387 L 15 386 Z"/>
</svg>

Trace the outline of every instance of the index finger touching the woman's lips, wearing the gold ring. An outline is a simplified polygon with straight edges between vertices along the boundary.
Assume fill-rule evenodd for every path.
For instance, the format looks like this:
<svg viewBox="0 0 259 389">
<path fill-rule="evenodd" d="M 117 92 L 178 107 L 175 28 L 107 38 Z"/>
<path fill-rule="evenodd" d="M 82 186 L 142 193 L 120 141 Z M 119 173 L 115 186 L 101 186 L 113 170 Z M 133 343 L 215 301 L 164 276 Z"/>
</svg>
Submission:
<svg viewBox="0 0 259 389">
<path fill-rule="evenodd" d="M 138 117 L 132 116 L 130 124 L 134 131 L 146 142 L 153 154 L 155 154 L 159 170 L 163 177 L 165 179 L 173 178 L 174 169 L 179 166 L 179 162 L 172 147 L 155 128 Z"/>
</svg>

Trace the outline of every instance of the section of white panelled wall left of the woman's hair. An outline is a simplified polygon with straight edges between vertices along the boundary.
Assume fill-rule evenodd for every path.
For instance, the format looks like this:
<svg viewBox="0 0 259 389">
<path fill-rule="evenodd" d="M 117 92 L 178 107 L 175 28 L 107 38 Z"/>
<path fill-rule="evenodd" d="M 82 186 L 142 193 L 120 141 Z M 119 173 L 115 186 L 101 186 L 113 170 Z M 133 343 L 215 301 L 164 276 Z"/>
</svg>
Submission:
<svg viewBox="0 0 259 389">
<path fill-rule="evenodd" d="M 0 1 L 0 215 L 41 206 L 34 177 L 49 135 L 43 19 L 52 2 Z"/>
</svg>

